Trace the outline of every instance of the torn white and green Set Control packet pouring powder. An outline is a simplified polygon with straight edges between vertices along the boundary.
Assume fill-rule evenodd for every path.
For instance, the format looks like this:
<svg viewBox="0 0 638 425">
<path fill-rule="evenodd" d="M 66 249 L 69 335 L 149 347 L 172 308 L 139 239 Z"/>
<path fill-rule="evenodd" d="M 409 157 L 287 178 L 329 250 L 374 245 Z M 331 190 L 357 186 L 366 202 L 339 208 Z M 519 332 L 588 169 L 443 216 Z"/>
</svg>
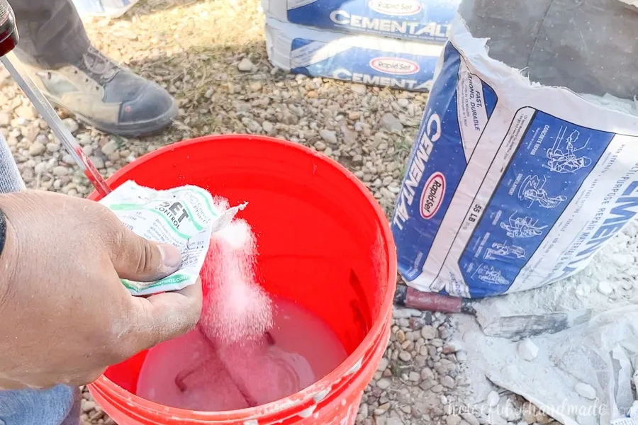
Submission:
<svg viewBox="0 0 638 425">
<path fill-rule="evenodd" d="M 156 191 L 126 181 L 99 201 L 135 234 L 153 242 L 171 244 L 181 251 L 181 267 L 155 282 L 121 279 L 133 295 L 180 290 L 196 282 L 206 258 L 211 233 L 222 229 L 245 208 L 245 203 L 222 209 L 208 191 L 180 186 Z"/>
</svg>

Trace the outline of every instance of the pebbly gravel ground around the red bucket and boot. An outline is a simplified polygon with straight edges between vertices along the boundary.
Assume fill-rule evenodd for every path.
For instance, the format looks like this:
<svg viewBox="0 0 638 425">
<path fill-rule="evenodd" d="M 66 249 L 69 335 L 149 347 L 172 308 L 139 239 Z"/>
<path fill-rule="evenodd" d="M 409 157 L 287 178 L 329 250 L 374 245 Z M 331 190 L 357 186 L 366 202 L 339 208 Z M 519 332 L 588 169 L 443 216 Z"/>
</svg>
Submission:
<svg viewBox="0 0 638 425">
<path fill-rule="evenodd" d="M 190 137 L 271 135 L 313 147 L 347 166 L 391 212 L 427 95 L 273 69 L 255 0 L 142 0 L 123 18 L 87 20 L 86 26 L 96 47 L 167 87 L 180 106 L 171 129 L 142 140 L 105 135 L 62 111 L 103 175 Z M 0 105 L 0 131 L 28 187 L 87 196 L 88 181 L 6 72 L 0 74 Z M 366 388 L 357 423 L 486 423 L 450 409 L 462 405 L 465 358 L 451 337 L 444 314 L 397 310 L 391 341 Z M 529 407 L 520 399 L 513 403 Z M 86 390 L 82 412 L 86 424 L 114 423 Z M 517 412 L 505 419 L 514 424 L 551 422 L 530 409 Z"/>
</svg>

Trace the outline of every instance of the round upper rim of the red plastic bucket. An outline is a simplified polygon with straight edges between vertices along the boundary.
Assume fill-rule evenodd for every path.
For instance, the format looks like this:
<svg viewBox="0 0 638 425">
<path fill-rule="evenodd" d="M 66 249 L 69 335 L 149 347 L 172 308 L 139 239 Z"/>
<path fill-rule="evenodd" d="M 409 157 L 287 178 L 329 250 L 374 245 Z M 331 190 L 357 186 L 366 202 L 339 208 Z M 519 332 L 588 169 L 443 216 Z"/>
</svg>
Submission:
<svg viewBox="0 0 638 425">
<path fill-rule="evenodd" d="M 359 343 L 357 348 L 355 348 L 354 351 L 349 356 L 347 356 L 344 361 L 342 361 L 342 363 L 337 365 L 335 369 L 328 373 L 328 375 L 324 375 L 323 378 L 304 388 L 300 392 L 296 392 L 292 395 L 289 395 L 288 397 L 284 397 L 283 399 L 275 400 L 274 402 L 260 404 L 256 407 L 227 410 L 222 412 L 206 412 L 164 406 L 163 404 L 151 402 L 150 400 L 133 394 L 133 392 L 125 390 L 112 380 L 106 378 L 105 375 L 101 375 L 97 380 L 87 385 L 89 387 L 89 391 L 91 390 L 91 387 L 95 387 L 98 392 L 106 390 L 116 397 L 126 400 L 127 404 L 134 404 L 136 407 L 140 407 L 150 412 L 157 412 L 157 414 L 167 414 L 169 412 L 174 419 L 189 419 L 191 421 L 194 419 L 208 421 L 252 421 L 253 419 L 258 419 L 263 416 L 269 416 L 278 412 L 284 412 L 290 409 L 294 409 L 295 407 L 305 406 L 305 404 L 313 399 L 316 404 L 320 402 L 323 397 L 328 395 L 329 391 L 327 390 L 332 387 L 333 382 L 337 382 L 347 375 L 357 373 L 357 371 L 364 366 L 362 364 L 362 361 L 365 357 L 366 351 L 369 350 L 369 346 L 374 345 L 374 340 L 377 336 L 379 336 L 379 334 L 381 334 L 384 326 L 386 326 L 386 321 L 389 317 L 388 314 L 391 314 L 394 295 L 393 287 L 396 285 L 397 274 L 396 246 L 394 243 L 393 234 L 390 229 L 390 222 L 386 218 L 386 214 L 381 208 L 381 205 L 379 205 L 378 201 L 374 198 L 371 191 L 369 191 L 369 189 L 362 183 L 362 181 L 360 181 L 356 176 L 354 176 L 354 174 L 352 174 L 352 172 L 346 169 L 345 166 L 342 166 L 342 164 L 339 164 L 337 161 L 323 153 L 317 152 L 313 149 L 310 149 L 309 147 L 300 145 L 298 143 L 290 142 L 288 140 L 282 140 L 276 137 L 262 135 L 245 135 L 231 133 L 225 135 L 201 136 L 160 147 L 153 152 L 142 155 L 142 157 L 135 159 L 135 161 L 131 162 L 130 164 L 123 166 L 121 169 L 116 171 L 113 176 L 106 179 L 106 182 L 110 184 L 113 181 L 121 180 L 126 176 L 126 174 L 128 174 L 140 164 L 152 161 L 153 159 L 161 155 L 169 154 L 169 152 L 172 152 L 176 149 L 181 149 L 182 147 L 197 145 L 200 143 L 216 142 L 228 139 L 256 140 L 259 142 L 272 143 L 284 147 L 289 147 L 291 149 L 297 149 L 298 151 L 313 155 L 323 162 L 330 164 L 332 167 L 337 169 L 337 171 L 340 171 L 341 174 L 343 174 L 349 181 L 354 183 L 354 185 L 357 186 L 360 191 L 362 191 L 362 193 L 376 212 L 376 217 L 379 221 L 381 234 L 386 241 L 386 249 L 388 254 L 388 276 L 386 276 L 386 281 L 388 282 L 388 290 L 386 290 L 386 293 L 383 295 L 383 301 L 381 302 L 378 316 L 373 318 L 373 323 L 370 330 L 367 332 L 364 339 Z M 99 193 L 93 191 L 91 192 L 91 194 L 89 194 L 88 198 L 91 200 L 99 200 Z M 300 409 L 300 411 L 301 410 L 303 409 Z"/>
</svg>

